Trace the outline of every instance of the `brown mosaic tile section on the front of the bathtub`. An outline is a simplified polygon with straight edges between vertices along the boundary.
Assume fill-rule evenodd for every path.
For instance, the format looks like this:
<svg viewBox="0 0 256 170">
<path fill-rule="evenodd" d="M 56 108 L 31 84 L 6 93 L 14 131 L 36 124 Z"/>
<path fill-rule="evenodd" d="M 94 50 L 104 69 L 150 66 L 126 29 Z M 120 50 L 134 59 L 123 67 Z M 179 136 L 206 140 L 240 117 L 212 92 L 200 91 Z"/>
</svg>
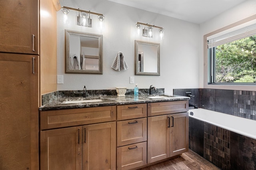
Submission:
<svg viewBox="0 0 256 170">
<path fill-rule="evenodd" d="M 230 130 L 204 122 L 204 158 L 222 170 L 230 169 Z"/>
</svg>

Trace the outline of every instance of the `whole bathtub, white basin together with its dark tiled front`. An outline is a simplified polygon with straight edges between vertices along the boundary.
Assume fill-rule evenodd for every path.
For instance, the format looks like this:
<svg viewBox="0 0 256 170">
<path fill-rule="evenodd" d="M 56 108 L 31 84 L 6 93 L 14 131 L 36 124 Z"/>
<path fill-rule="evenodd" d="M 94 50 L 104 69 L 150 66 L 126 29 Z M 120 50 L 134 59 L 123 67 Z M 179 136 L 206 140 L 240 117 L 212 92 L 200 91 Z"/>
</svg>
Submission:
<svg viewBox="0 0 256 170">
<path fill-rule="evenodd" d="M 189 148 L 222 170 L 256 170 L 256 121 L 190 109 Z"/>
</svg>

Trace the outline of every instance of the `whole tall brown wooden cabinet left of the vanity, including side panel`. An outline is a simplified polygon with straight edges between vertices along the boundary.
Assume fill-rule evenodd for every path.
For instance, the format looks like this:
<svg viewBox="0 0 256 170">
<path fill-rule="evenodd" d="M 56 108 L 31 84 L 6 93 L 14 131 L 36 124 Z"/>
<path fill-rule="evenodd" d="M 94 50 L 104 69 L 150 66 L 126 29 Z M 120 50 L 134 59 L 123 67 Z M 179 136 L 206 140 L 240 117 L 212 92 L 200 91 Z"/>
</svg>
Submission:
<svg viewBox="0 0 256 170">
<path fill-rule="evenodd" d="M 38 107 L 41 94 L 56 91 L 56 10 L 52 1 L 0 3 L 1 170 L 39 169 Z"/>
</svg>

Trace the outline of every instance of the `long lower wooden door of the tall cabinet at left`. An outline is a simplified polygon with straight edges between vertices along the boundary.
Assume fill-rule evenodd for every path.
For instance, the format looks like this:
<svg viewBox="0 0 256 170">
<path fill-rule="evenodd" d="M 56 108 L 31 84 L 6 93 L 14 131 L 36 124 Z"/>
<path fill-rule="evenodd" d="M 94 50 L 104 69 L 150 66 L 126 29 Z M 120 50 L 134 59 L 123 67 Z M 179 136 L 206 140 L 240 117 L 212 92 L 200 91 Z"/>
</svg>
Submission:
<svg viewBox="0 0 256 170">
<path fill-rule="evenodd" d="M 0 53 L 0 169 L 36 170 L 38 152 L 38 57 Z"/>
</svg>

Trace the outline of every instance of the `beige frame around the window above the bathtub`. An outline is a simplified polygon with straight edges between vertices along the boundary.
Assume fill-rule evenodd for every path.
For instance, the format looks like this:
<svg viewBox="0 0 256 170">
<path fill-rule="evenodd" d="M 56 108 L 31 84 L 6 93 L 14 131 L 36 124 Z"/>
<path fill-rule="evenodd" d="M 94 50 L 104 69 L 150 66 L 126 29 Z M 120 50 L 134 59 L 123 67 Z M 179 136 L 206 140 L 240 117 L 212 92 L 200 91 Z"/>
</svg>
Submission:
<svg viewBox="0 0 256 170">
<path fill-rule="evenodd" d="M 218 34 L 228 29 L 232 29 L 236 26 L 245 24 L 246 22 L 250 22 L 255 19 L 256 19 L 256 15 L 253 15 L 251 17 L 245 18 L 244 20 L 240 20 L 238 22 L 235 22 L 234 24 L 230 24 L 224 28 L 220 28 L 214 32 L 204 35 L 204 43 L 203 43 L 204 44 L 204 88 L 256 91 L 256 83 L 214 83 L 215 75 L 212 76 L 212 67 L 215 65 L 214 63 L 215 59 L 212 60 L 213 58 L 208 56 L 208 53 L 210 50 L 208 50 L 208 41 L 207 41 L 207 38 L 209 36 Z"/>
</svg>

